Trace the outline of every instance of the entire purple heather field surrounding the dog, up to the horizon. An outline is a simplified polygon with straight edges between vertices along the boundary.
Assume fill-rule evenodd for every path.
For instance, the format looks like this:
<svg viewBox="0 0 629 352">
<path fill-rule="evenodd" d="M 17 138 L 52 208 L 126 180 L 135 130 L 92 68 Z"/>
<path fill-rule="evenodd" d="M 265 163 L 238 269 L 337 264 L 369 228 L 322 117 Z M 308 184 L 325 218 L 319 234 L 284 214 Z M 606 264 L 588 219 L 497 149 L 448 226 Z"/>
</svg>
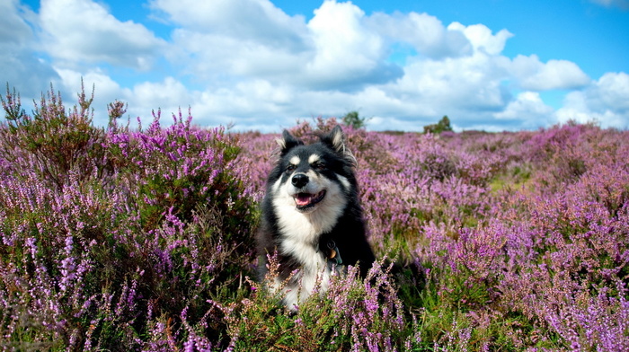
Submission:
<svg viewBox="0 0 629 352">
<path fill-rule="evenodd" d="M 379 262 L 290 314 L 254 280 L 279 135 L 90 104 L 3 97 L 3 350 L 629 350 L 628 131 L 344 127 Z"/>
</svg>

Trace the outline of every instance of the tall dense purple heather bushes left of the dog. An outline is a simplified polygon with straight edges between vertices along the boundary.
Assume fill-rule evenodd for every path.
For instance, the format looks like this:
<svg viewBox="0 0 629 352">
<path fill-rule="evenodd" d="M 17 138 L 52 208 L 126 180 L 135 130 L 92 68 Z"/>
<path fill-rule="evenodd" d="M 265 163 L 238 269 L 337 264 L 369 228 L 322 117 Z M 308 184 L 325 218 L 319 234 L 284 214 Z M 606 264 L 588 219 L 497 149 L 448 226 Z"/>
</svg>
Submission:
<svg viewBox="0 0 629 352">
<path fill-rule="evenodd" d="M 238 291 L 252 260 L 235 139 L 181 114 L 120 127 L 120 104 L 94 128 L 87 106 L 42 101 L 0 127 L 0 348 L 219 346 L 208 295 Z"/>
</svg>

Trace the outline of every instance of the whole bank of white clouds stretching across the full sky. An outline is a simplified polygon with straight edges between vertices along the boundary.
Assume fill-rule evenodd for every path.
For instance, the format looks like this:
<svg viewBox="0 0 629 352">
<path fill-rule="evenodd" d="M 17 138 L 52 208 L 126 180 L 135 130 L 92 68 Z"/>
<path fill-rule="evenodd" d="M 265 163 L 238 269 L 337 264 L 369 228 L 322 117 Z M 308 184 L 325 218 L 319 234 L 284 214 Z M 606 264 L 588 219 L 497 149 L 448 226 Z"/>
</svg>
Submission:
<svg viewBox="0 0 629 352">
<path fill-rule="evenodd" d="M 263 131 L 350 110 L 374 129 L 421 130 L 443 115 L 456 128 L 487 130 L 536 128 L 550 119 L 629 120 L 624 73 L 592 80 L 571 61 L 506 57 L 513 34 L 482 23 L 368 14 L 334 0 L 310 20 L 269 0 L 151 0 L 149 8 L 171 27 L 168 40 L 93 0 L 46 0 L 40 13 L 4 2 L 0 74 L 22 82 L 56 76 L 72 96 L 83 77 L 88 89 L 96 85 L 101 124 L 116 99 L 145 121 L 154 109 L 168 121 L 190 107 L 199 124 Z M 157 59 L 160 75 L 143 72 Z M 141 79 L 123 82 L 121 70 Z M 32 86 L 45 90 L 47 83 Z M 557 111 L 540 93 L 553 90 L 571 91 Z"/>
</svg>

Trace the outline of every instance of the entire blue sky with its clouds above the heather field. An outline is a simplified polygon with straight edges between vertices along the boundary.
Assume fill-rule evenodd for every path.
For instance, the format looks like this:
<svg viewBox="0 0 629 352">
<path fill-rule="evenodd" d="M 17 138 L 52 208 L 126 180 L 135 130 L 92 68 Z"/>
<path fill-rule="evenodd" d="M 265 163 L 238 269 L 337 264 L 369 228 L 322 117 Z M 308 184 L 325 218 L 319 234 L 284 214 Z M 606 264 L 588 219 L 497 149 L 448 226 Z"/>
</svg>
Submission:
<svg viewBox="0 0 629 352">
<path fill-rule="evenodd" d="M 0 81 L 73 102 L 83 77 L 101 125 L 121 100 L 264 132 L 350 110 L 375 130 L 628 128 L 627 38 L 627 0 L 0 0 Z"/>
</svg>

